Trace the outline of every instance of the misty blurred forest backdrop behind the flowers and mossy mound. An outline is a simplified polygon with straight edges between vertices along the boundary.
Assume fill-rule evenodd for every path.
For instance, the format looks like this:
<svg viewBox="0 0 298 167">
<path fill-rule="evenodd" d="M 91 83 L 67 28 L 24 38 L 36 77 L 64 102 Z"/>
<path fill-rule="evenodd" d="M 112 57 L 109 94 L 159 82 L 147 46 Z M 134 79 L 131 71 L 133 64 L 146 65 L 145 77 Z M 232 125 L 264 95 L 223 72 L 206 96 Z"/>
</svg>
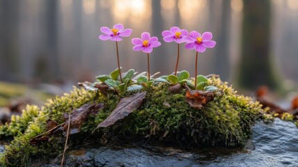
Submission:
<svg viewBox="0 0 298 167">
<path fill-rule="evenodd" d="M 121 23 L 133 29 L 119 42 L 123 71 L 147 70 L 146 54 L 131 44 L 147 31 L 162 43 L 151 53 L 151 73 L 172 73 L 176 44 L 164 42 L 161 32 L 179 26 L 210 31 L 217 42 L 199 54 L 198 74 L 220 74 L 242 88 L 293 89 L 297 18 L 297 0 L 0 0 L 0 81 L 94 81 L 117 68 L 115 42 L 99 40 L 100 28 Z M 183 47 L 179 70 L 193 76 L 195 51 Z"/>
</svg>

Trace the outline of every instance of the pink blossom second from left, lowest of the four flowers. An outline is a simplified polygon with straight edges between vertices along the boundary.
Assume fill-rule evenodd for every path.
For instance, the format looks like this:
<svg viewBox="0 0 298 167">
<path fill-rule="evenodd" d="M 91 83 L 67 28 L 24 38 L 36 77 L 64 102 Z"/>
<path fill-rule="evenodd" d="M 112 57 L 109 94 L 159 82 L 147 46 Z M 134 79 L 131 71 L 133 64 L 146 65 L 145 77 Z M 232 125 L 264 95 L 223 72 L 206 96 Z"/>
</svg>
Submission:
<svg viewBox="0 0 298 167">
<path fill-rule="evenodd" d="M 143 51 L 147 54 L 151 53 L 154 47 L 159 47 L 161 44 L 158 42 L 157 37 L 150 38 L 150 33 L 144 32 L 142 33 L 142 38 L 133 38 L 131 42 L 133 45 L 134 51 Z"/>
</svg>

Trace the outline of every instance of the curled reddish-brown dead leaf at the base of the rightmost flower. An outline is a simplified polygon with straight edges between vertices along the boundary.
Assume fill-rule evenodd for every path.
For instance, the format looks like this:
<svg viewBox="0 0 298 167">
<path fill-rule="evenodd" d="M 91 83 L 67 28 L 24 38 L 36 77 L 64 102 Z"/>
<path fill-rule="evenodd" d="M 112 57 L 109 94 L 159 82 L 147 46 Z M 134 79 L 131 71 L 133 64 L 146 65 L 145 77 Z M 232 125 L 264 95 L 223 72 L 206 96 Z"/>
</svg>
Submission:
<svg viewBox="0 0 298 167">
<path fill-rule="evenodd" d="M 188 86 L 185 98 L 194 109 L 202 109 L 205 104 L 213 100 L 213 91 L 192 90 Z"/>
</svg>

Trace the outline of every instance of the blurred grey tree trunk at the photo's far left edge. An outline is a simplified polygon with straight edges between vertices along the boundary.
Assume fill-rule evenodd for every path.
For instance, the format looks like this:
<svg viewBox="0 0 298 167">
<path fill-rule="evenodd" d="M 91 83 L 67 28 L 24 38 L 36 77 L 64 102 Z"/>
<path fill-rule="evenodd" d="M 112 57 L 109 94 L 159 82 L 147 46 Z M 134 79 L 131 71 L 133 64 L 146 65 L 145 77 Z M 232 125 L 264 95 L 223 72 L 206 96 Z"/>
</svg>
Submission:
<svg viewBox="0 0 298 167">
<path fill-rule="evenodd" d="M 19 0 L 0 1 L 0 79 L 17 81 Z"/>
</svg>

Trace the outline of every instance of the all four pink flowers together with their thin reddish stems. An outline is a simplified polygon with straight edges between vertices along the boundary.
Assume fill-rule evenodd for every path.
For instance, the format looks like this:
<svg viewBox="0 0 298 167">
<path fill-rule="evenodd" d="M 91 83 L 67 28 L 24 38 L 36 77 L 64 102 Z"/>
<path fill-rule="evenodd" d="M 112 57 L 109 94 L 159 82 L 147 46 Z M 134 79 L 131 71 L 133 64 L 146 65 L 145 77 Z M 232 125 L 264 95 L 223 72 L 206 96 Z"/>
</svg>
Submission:
<svg viewBox="0 0 298 167">
<path fill-rule="evenodd" d="M 109 29 L 106 26 L 101 27 L 101 32 L 104 33 L 103 35 L 99 36 L 99 39 L 101 40 L 113 40 L 121 41 L 122 37 L 128 37 L 131 35 L 132 30 L 131 29 L 124 29 L 124 26 L 122 24 L 116 24 L 113 26 L 113 29 Z M 195 49 L 196 54 L 196 69 L 197 69 L 197 55 L 198 52 L 204 52 L 206 51 L 206 48 L 213 48 L 216 45 L 216 42 L 212 40 L 213 36 L 210 32 L 205 32 L 202 35 L 198 33 L 197 31 L 191 31 L 188 33 L 185 29 L 180 29 L 177 26 L 173 26 L 169 31 L 163 31 L 163 40 L 165 42 L 176 42 L 178 44 L 178 56 L 177 56 L 177 63 L 176 63 L 176 69 L 175 74 L 179 62 L 179 44 L 186 42 L 185 49 Z M 149 53 L 153 51 L 154 47 L 159 47 L 161 44 L 158 41 L 157 37 L 151 37 L 150 33 L 144 32 L 141 35 L 141 38 L 133 38 L 131 40 L 133 43 L 134 51 L 143 51 L 148 56 L 148 79 L 150 80 L 150 72 L 149 72 Z M 117 47 L 117 56 L 118 55 L 118 47 Z M 119 58 L 118 58 L 118 67 L 119 67 Z M 119 68 L 120 69 L 120 68 Z M 197 71 L 197 70 L 196 70 Z M 197 76 L 197 72 L 196 72 Z M 120 76 L 121 78 L 121 76 Z M 197 77 L 195 77 L 197 78 Z"/>
</svg>

